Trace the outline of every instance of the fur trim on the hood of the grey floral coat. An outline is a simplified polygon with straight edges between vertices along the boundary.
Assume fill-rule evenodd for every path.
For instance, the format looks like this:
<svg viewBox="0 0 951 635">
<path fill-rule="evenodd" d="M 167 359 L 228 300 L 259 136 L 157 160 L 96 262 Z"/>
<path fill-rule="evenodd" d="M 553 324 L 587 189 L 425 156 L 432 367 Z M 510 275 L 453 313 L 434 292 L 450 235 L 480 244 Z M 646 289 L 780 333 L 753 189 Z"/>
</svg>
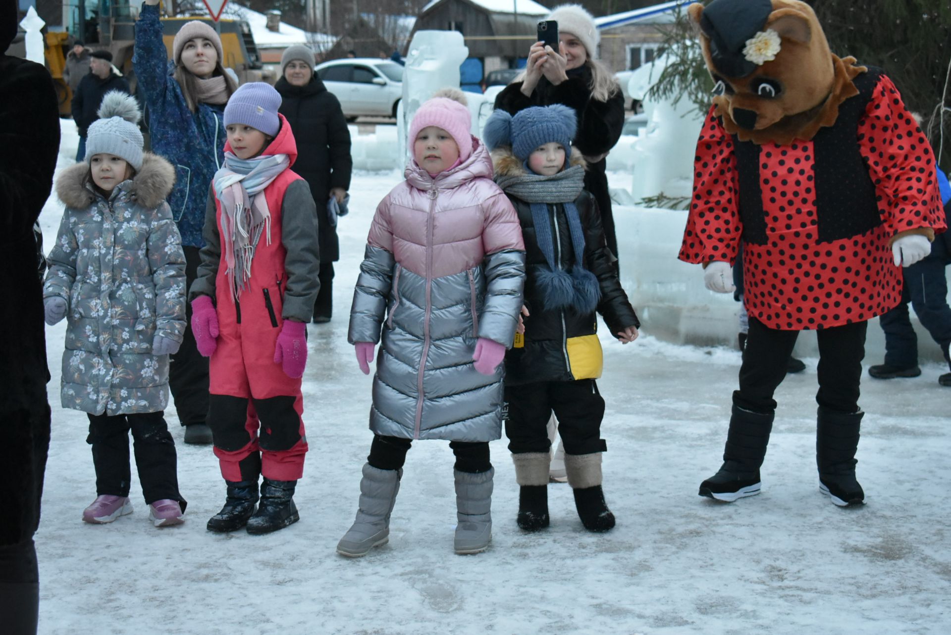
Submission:
<svg viewBox="0 0 951 635">
<path fill-rule="evenodd" d="M 97 198 L 92 185 L 84 184 L 89 174 L 89 164 L 68 167 L 56 180 L 56 196 L 72 209 L 85 209 Z M 125 190 L 129 196 L 144 207 L 153 209 L 168 197 L 175 184 L 175 168 L 165 159 L 151 152 L 142 153 L 142 169 L 128 181 L 116 188 Z"/>
</svg>

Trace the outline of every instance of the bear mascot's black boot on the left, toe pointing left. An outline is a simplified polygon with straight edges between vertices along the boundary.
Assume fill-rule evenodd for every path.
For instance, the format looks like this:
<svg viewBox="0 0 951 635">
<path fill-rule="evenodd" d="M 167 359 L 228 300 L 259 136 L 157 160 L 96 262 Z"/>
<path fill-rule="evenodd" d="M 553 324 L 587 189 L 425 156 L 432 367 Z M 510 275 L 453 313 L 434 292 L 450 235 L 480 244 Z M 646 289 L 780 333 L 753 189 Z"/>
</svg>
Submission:
<svg viewBox="0 0 951 635">
<path fill-rule="evenodd" d="M 767 454 L 773 416 L 733 406 L 723 465 L 700 484 L 699 495 L 732 503 L 760 493 L 760 466 Z"/>
</svg>

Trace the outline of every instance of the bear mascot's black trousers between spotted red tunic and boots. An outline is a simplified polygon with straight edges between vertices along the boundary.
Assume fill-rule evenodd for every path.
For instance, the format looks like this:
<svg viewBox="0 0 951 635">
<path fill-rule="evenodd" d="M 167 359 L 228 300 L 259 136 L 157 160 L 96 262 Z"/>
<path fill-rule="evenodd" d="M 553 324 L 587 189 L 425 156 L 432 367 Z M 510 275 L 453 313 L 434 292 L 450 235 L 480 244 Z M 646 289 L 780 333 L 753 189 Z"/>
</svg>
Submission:
<svg viewBox="0 0 951 635">
<path fill-rule="evenodd" d="M 865 356 L 868 322 L 834 326 L 816 332 L 819 340 L 819 393 L 816 401 L 836 413 L 859 410 L 859 383 Z M 733 392 L 733 404 L 754 413 L 772 414 L 773 393 L 786 378 L 786 363 L 799 331 L 771 329 L 749 317 L 747 348 L 740 367 L 740 390 Z M 568 452 L 567 446 L 565 452 Z"/>
</svg>

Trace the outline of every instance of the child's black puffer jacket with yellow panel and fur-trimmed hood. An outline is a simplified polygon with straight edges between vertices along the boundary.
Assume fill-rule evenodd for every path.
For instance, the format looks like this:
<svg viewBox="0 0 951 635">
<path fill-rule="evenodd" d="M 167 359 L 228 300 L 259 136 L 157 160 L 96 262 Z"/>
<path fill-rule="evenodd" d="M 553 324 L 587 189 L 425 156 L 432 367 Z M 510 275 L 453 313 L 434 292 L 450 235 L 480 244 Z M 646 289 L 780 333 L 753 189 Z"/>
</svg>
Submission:
<svg viewBox="0 0 951 635">
<path fill-rule="evenodd" d="M 493 152 L 495 177 L 525 174 L 522 162 L 509 148 Z M 580 157 L 573 164 L 583 164 Z M 516 345 L 505 356 L 505 381 L 508 385 L 535 381 L 573 381 L 601 375 L 601 347 L 597 340 L 597 317 L 594 313 L 574 311 L 545 311 L 541 291 L 537 285 L 538 271 L 548 267 L 548 261 L 535 240 L 534 221 L 530 203 L 511 194 L 509 200 L 518 213 L 525 241 L 525 305 L 532 315 L 525 318 L 525 336 L 521 346 Z M 585 268 L 597 277 L 601 300 L 597 312 L 604 317 L 611 334 L 629 326 L 640 327 L 640 321 L 621 287 L 614 267 L 614 257 L 605 242 L 604 229 L 598 214 L 597 202 L 587 191 L 574 201 L 581 226 L 585 230 Z M 560 256 L 561 268 L 571 270 L 574 249 L 568 220 L 562 204 L 548 205 L 552 221 L 552 236 L 557 237 L 555 254 Z M 557 222 L 555 222 L 555 218 Z"/>
</svg>

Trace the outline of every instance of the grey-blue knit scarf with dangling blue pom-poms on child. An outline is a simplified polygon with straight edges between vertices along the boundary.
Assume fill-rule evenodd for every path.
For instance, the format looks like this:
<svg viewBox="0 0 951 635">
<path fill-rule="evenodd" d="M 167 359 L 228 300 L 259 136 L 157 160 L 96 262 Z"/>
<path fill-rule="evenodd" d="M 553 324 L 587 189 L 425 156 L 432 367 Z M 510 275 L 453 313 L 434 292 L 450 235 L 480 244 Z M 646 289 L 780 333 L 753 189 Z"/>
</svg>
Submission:
<svg viewBox="0 0 951 635">
<path fill-rule="evenodd" d="M 580 314 L 592 313 L 601 299 L 601 287 L 592 272 L 585 269 L 585 232 L 581 226 L 574 201 L 585 186 L 585 170 L 574 165 L 552 176 L 541 176 L 529 172 L 518 176 L 499 176 L 495 183 L 506 194 L 529 203 L 532 209 L 535 241 L 545 255 L 548 268 L 542 269 L 537 276 L 537 284 L 542 292 L 542 303 L 546 310 L 573 309 Z M 554 237 L 552 235 L 549 204 L 561 203 L 568 219 L 568 231 L 572 237 L 574 265 L 571 273 L 564 271 L 554 257 Z"/>
</svg>

